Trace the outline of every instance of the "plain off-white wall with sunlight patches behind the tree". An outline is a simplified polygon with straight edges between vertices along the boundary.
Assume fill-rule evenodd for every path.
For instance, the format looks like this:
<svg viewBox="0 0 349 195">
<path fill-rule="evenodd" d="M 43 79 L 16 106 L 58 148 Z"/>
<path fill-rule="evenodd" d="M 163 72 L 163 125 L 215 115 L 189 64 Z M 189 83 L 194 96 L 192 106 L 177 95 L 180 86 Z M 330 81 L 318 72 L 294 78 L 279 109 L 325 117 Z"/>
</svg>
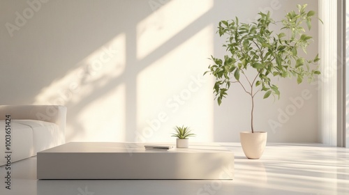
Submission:
<svg viewBox="0 0 349 195">
<path fill-rule="evenodd" d="M 174 141 L 174 125 L 191 126 L 194 141 L 239 141 L 248 96 L 233 86 L 218 107 L 214 78 L 202 77 L 207 58 L 225 54 L 218 22 L 251 22 L 260 10 L 281 18 L 297 3 L 318 10 L 317 1 L 46 1 L 0 1 L 0 104 L 66 105 L 67 141 Z M 258 96 L 255 128 L 269 142 L 317 141 L 316 86 L 278 84 L 280 100 Z"/>
</svg>

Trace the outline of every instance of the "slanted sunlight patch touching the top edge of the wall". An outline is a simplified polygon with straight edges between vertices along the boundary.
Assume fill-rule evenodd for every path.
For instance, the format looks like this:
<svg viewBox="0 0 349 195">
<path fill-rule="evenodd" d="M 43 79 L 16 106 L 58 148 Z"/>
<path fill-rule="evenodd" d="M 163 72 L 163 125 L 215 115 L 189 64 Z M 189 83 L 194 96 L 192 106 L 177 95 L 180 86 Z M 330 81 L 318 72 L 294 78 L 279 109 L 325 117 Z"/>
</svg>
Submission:
<svg viewBox="0 0 349 195">
<path fill-rule="evenodd" d="M 137 25 L 137 57 L 143 59 L 191 25 L 214 5 L 213 1 L 169 1 Z"/>
</svg>

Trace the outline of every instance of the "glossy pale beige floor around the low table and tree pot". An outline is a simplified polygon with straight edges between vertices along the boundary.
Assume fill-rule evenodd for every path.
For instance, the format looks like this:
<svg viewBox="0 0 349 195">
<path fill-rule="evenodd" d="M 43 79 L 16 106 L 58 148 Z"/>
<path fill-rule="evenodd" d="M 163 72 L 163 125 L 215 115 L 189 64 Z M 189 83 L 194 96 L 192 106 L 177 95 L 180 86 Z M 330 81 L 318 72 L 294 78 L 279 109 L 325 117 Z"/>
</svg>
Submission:
<svg viewBox="0 0 349 195">
<path fill-rule="evenodd" d="M 349 194 L 348 148 L 269 143 L 261 159 L 250 160 L 239 143 L 222 145 L 235 153 L 232 181 L 36 180 L 36 157 L 31 157 L 12 165 L 10 190 L 3 182 L 6 170 L 0 167 L 0 194 Z"/>
</svg>

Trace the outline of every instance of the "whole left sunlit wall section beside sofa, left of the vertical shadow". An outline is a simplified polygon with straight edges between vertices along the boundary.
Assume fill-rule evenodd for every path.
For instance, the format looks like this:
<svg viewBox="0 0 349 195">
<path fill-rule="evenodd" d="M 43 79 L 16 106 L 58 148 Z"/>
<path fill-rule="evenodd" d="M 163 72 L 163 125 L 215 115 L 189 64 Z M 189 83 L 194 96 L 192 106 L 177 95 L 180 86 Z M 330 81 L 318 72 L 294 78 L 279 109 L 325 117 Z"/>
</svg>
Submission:
<svg viewBox="0 0 349 195">
<path fill-rule="evenodd" d="M 43 88 L 34 104 L 68 107 L 66 141 L 122 141 L 125 87 L 116 79 L 125 66 L 126 36 L 121 33 Z"/>
</svg>

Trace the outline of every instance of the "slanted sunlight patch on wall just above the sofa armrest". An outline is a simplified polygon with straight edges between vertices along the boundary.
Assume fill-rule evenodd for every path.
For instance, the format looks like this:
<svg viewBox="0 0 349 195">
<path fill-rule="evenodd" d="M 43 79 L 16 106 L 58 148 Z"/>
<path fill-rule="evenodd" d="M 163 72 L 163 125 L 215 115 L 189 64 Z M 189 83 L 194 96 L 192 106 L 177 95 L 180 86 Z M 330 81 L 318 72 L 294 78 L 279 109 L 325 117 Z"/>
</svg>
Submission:
<svg viewBox="0 0 349 195">
<path fill-rule="evenodd" d="M 64 77 L 43 88 L 34 104 L 77 104 L 94 88 L 105 86 L 124 72 L 125 48 L 126 36 L 122 33 L 77 63 Z"/>
</svg>

